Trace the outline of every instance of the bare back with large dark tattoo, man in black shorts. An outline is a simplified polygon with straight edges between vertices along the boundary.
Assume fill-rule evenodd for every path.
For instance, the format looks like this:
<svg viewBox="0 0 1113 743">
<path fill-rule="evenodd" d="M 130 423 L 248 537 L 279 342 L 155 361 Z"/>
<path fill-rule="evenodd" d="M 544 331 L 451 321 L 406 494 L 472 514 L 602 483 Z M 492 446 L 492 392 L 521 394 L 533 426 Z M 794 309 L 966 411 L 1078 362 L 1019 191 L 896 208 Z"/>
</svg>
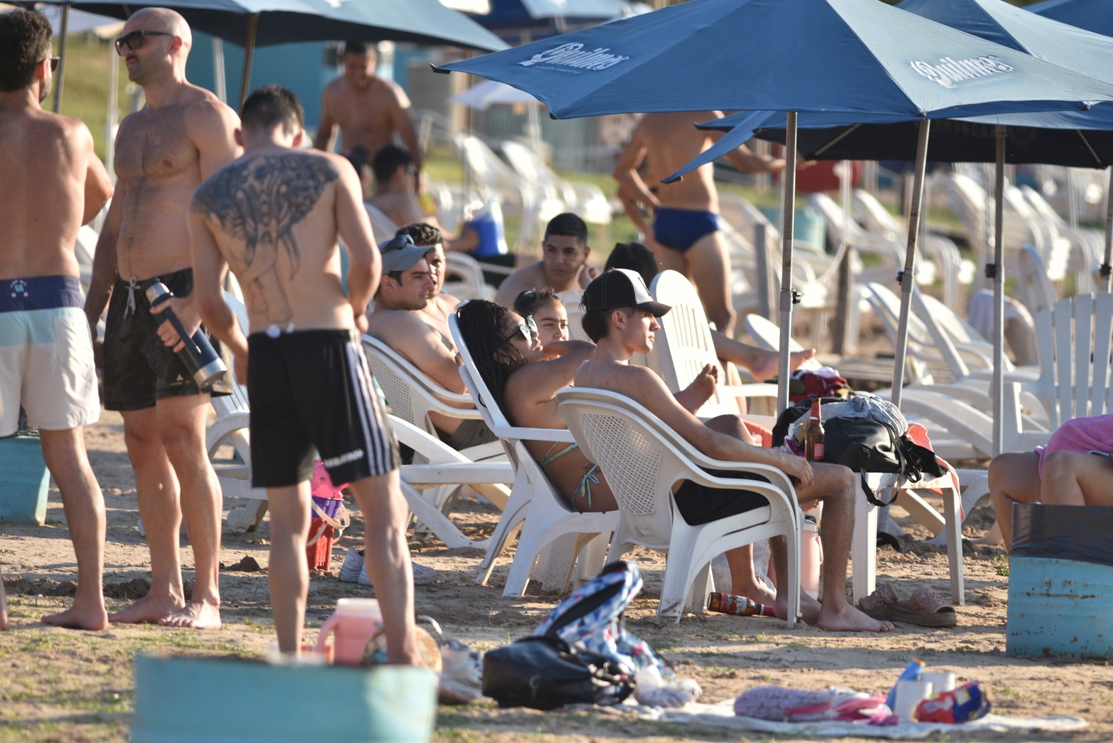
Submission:
<svg viewBox="0 0 1113 743">
<path fill-rule="evenodd" d="M 194 196 L 239 280 L 250 332 L 352 327 L 336 246 L 336 155 L 275 148 L 245 155 Z"/>
</svg>

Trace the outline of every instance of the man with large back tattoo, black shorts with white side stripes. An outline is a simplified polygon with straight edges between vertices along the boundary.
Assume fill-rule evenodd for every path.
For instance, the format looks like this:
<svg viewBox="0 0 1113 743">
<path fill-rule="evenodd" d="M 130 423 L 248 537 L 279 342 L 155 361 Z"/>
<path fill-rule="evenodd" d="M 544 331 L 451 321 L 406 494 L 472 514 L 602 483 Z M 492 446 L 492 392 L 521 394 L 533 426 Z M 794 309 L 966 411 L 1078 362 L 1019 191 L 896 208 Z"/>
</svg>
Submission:
<svg viewBox="0 0 1113 743">
<path fill-rule="evenodd" d="M 304 114 L 285 88 L 256 90 L 240 115 L 244 155 L 194 194 L 189 234 L 201 317 L 233 350 L 250 399 L 252 485 L 267 489 L 270 508 L 278 647 L 296 654 L 305 624 L 316 448 L 363 511 L 387 661 L 421 665 L 397 447 L 359 345 L 381 270 L 359 179 L 339 155 L 298 149 Z M 347 296 L 337 233 L 351 258 Z M 246 339 L 220 290 L 229 265 L 247 300 Z"/>
</svg>

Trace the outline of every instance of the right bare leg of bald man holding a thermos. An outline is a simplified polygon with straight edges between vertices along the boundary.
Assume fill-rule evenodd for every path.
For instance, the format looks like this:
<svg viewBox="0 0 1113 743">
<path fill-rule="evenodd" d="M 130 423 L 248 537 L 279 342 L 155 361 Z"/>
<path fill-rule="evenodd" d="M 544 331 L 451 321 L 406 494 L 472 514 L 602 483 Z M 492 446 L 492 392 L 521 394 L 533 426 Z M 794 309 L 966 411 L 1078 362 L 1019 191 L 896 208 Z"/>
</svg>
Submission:
<svg viewBox="0 0 1113 743">
<path fill-rule="evenodd" d="M 166 456 L 181 488 L 181 518 L 194 553 L 194 593 L 159 620 L 170 627 L 220 627 L 220 482 L 205 451 L 208 394 L 164 398 L 155 405 Z M 180 559 L 180 558 L 179 558 Z"/>
</svg>

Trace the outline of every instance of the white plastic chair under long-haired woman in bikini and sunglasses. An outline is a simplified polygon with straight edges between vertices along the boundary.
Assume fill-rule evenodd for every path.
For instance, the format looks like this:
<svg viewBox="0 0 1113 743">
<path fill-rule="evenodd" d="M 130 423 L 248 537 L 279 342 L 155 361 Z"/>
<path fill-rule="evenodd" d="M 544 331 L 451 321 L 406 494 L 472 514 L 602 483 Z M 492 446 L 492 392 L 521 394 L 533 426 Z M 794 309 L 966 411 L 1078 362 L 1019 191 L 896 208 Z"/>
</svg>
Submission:
<svg viewBox="0 0 1113 743">
<path fill-rule="evenodd" d="M 533 459 L 525 441 L 560 441 L 571 443 L 568 431 L 544 428 L 522 428 L 511 426 L 503 411 L 495 404 L 494 395 L 480 375 L 471 351 L 460 333 L 456 316 L 449 317 L 449 329 L 453 342 L 460 351 L 464 365 L 460 375 L 467 385 L 475 405 L 483 414 L 491 430 L 499 437 L 506 457 L 514 468 L 514 483 L 510 498 L 503 507 L 499 525 L 487 546 L 486 556 L 480 566 L 475 583 L 486 585 L 494 569 L 494 560 L 502 554 L 506 542 L 521 529 L 518 550 L 510 566 L 510 575 L 503 588 L 503 596 L 522 596 L 531 579 L 534 564 L 546 547 L 548 556 L 542 560 L 544 576 L 542 586 L 563 592 L 571 580 L 575 556 L 599 535 L 610 535 L 618 528 L 618 511 L 578 512 L 569 508 L 564 497 L 549 481 L 541 465 Z M 554 544 L 560 542 L 560 544 Z M 571 544 L 569 544 L 571 542 Z M 590 556 L 585 556 L 587 557 Z M 541 567 L 541 566 L 539 566 Z M 592 565 L 581 569 L 581 574 L 592 574 Z"/>
</svg>

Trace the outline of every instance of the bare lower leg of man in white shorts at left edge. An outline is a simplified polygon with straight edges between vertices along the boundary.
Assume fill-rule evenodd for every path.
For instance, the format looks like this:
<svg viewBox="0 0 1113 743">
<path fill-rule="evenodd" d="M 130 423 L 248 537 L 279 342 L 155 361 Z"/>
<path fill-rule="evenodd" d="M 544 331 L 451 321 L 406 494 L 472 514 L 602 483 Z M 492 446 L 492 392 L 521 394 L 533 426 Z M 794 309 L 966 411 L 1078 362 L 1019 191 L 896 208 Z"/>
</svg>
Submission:
<svg viewBox="0 0 1113 743">
<path fill-rule="evenodd" d="M 39 440 L 47 469 L 62 493 L 66 524 L 77 555 L 73 606 L 42 620 L 71 629 L 105 629 L 108 627 L 104 595 L 105 498 L 89 467 L 83 429 L 39 429 Z"/>
</svg>

